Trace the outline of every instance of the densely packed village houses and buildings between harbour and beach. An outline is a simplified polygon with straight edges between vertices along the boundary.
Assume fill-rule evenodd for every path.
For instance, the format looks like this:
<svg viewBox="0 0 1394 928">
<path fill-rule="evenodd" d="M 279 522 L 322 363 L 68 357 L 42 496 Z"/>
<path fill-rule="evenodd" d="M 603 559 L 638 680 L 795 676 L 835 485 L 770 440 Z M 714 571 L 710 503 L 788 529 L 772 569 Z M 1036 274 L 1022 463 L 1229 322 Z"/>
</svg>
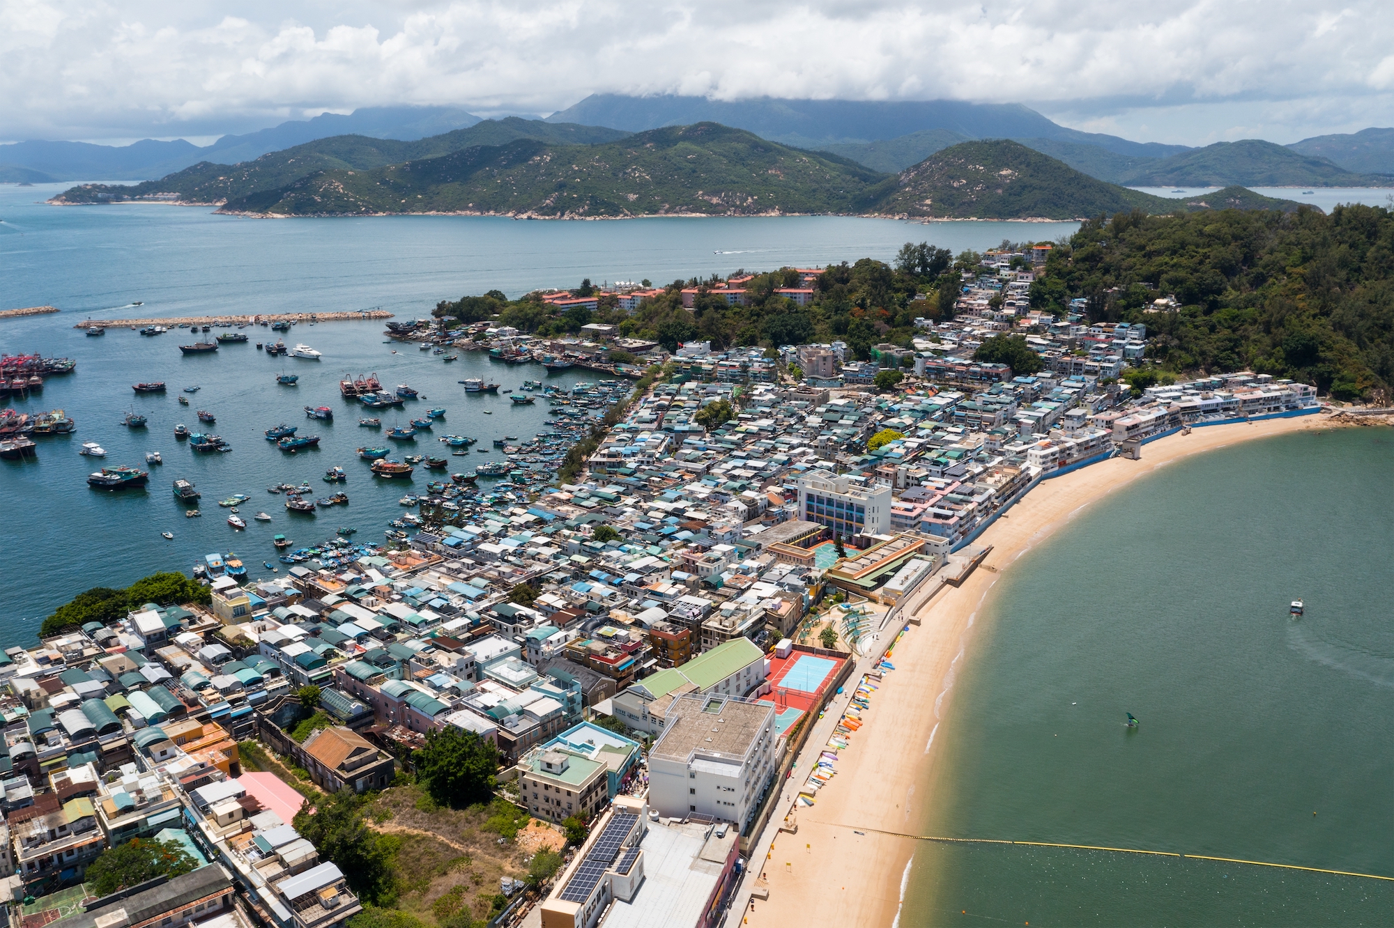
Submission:
<svg viewBox="0 0 1394 928">
<path fill-rule="evenodd" d="M 1118 378 L 1146 326 L 1033 311 L 1043 261 L 990 252 L 997 273 L 963 286 L 952 319 L 917 319 L 910 346 L 863 361 L 842 341 L 668 353 L 602 325 L 544 341 L 477 323 L 484 347 L 597 364 L 623 350 L 638 364 L 608 369 L 666 376 L 577 478 L 514 506 L 269 581 L 210 557 L 208 606 L 149 603 L 6 651 L 7 899 L 81 885 L 103 849 L 164 836 L 199 867 L 59 922 L 340 925 L 361 906 L 294 829 L 304 798 L 243 772 L 238 743 L 364 793 L 456 729 L 496 747 L 528 815 L 591 823 L 538 900 L 545 927 L 715 924 L 813 720 L 912 591 L 972 569 L 994 518 L 1043 479 L 1178 429 L 1317 407 L 1313 387 L 1253 373 L 1131 396 Z M 742 283 L 703 291 L 737 305 Z M 807 283 L 779 293 L 804 305 Z M 976 361 L 1001 333 L 1043 368 Z M 877 387 L 887 369 L 907 376 Z M 704 424 L 718 403 L 730 418 Z M 283 725 L 309 686 L 333 725 L 297 741 Z"/>
</svg>

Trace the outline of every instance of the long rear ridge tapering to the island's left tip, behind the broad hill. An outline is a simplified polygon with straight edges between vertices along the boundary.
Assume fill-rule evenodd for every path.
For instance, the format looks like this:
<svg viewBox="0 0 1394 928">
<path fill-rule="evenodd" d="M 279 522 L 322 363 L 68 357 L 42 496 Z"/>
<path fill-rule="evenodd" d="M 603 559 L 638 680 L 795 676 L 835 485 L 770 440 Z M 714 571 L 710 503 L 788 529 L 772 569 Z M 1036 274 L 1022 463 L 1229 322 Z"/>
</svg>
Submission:
<svg viewBox="0 0 1394 928">
<path fill-rule="evenodd" d="M 627 132 L 574 123 L 544 123 L 516 116 L 485 120 L 468 128 L 411 142 L 367 135 L 335 135 L 280 152 L 270 152 L 240 164 L 199 162 L 192 167 L 142 184 L 84 184 L 54 196 L 56 203 L 116 203 L 153 194 L 178 194 L 187 203 L 224 203 L 265 190 L 293 184 L 307 174 L 326 170 L 371 170 L 407 160 L 436 157 L 478 145 L 505 145 L 520 138 L 574 145 L 591 145 L 625 138 Z"/>
</svg>

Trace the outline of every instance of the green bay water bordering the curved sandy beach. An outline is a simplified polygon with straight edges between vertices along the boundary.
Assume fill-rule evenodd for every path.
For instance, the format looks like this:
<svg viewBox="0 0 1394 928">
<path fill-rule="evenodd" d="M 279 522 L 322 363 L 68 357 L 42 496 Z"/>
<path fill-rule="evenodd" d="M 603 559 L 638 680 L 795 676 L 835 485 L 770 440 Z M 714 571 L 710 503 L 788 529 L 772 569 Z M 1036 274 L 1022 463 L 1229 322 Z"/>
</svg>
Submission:
<svg viewBox="0 0 1394 928">
<path fill-rule="evenodd" d="M 1394 876 L 1391 479 L 1390 429 L 1252 442 L 1023 556 L 969 645 L 926 833 Z M 901 924 L 984 920 L 1390 924 L 1394 883 L 921 843 Z"/>
</svg>

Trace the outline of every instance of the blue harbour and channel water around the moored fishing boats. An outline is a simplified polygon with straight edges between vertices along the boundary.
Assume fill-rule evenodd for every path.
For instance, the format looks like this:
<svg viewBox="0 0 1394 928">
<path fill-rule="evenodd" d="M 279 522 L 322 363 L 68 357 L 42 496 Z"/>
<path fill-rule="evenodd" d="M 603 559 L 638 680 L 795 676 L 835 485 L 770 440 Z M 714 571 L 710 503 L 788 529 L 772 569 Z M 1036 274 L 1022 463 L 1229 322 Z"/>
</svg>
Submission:
<svg viewBox="0 0 1394 928">
<path fill-rule="evenodd" d="M 66 355 L 77 372 L 52 378 L 43 394 L 15 401 L 24 411 L 64 408 L 78 421 L 71 436 L 39 439 L 38 463 L 0 461 L 0 581 L 4 606 L 0 645 L 32 644 L 42 616 L 95 585 L 125 585 L 155 570 L 188 570 L 205 553 L 236 550 L 251 575 L 270 575 L 256 566 L 273 557 L 270 535 L 284 532 L 298 543 L 326 539 L 337 525 L 379 539 L 385 523 L 404 510 L 399 482 L 376 481 L 354 457 L 361 444 L 382 444 L 382 433 L 357 426 L 358 407 L 339 399 L 344 373 L 376 372 L 389 389 L 410 383 L 449 412 L 436 433 L 481 439 L 487 454 L 450 458 L 450 470 L 500 457 L 492 439 L 544 431 L 545 404 L 513 407 L 507 389 L 541 368 L 503 368 L 478 355 L 442 364 L 439 357 L 407 348 L 393 354 L 382 344 L 382 323 L 333 322 L 297 326 L 287 344 L 307 341 L 323 353 L 319 362 L 273 359 L 252 344 L 227 346 L 216 355 L 184 357 L 177 346 L 188 330 L 153 339 L 112 329 L 89 339 L 72 325 L 85 318 L 220 315 L 255 312 L 323 312 L 381 307 L 399 318 L 428 315 L 436 301 L 491 288 L 520 295 L 545 286 L 592 280 L 655 281 L 693 274 L 729 273 L 737 268 L 822 265 L 861 256 L 889 259 L 906 240 L 930 240 L 955 251 L 987 248 L 1002 238 L 1054 238 L 1075 223 L 942 223 L 832 216 L 782 219 L 664 219 L 636 222 L 549 223 L 457 216 L 248 220 L 215 216 L 202 208 L 153 203 L 112 208 L 56 208 L 43 199 L 66 185 L 0 185 L 0 308 L 56 305 L 47 316 L 0 319 L 0 351 Z M 132 308 L 128 304 L 142 301 Z M 247 329 L 255 341 L 270 333 Z M 280 371 L 300 373 L 297 387 L 275 383 Z M 470 397 L 456 383 L 487 376 L 505 386 L 499 397 Z M 569 386 L 585 372 L 553 375 Z M 135 396 L 130 385 L 166 380 L 164 396 Z M 180 389 L 202 390 L 190 407 Z M 333 425 L 305 419 L 301 407 L 326 404 Z M 199 456 L 176 443 L 171 429 L 194 412 L 217 415 L 210 431 L 229 439 L 231 454 Z M 408 410 L 411 405 L 408 405 Z M 149 428 L 128 433 L 116 422 L 127 410 L 149 417 Z M 484 415 L 489 410 L 492 415 Z M 382 414 L 383 425 L 395 415 Z M 315 450 L 282 454 L 262 438 L 279 422 L 322 436 Z M 85 475 L 96 461 L 79 457 L 82 442 L 109 451 L 105 464 L 145 467 L 145 451 L 160 450 L 162 468 L 151 468 L 146 492 L 99 493 Z M 407 450 L 410 449 L 410 450 Z M 441 453 L 434 440 L 403 453 Z M 308 479 L 343 465 L 350 472 L 347 510 L 287 518 L 282 496 L 265 488 Z M 198 520 L 180 516 L 170 484 L 184 477 L 204 493 Z M 428 482 L 424 471 L 415 489 Z M 248 520 L 234 535 L 216 500 L 250 493 L 243 513 L 265 509 L 270 524 Z M 159 532 L 174 532 L 167 542 Z"/>
</svg>

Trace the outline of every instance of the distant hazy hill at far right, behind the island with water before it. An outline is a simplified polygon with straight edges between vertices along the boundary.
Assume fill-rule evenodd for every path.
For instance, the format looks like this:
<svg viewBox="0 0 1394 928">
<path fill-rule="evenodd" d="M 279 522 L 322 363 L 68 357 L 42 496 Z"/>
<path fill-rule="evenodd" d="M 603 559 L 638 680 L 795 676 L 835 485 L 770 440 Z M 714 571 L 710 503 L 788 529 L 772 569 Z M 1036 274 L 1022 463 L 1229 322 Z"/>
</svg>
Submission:
<svg viewBox="0 0 1394 928">
<path fill-rule="evenodd" d="M 1245 139 L 1216 142 L 1153 162 L 1125 181 L 1131 187 L 1379 187 L 1388 178 L 1355 174 L 1324 157 Z"/>
</svg>

